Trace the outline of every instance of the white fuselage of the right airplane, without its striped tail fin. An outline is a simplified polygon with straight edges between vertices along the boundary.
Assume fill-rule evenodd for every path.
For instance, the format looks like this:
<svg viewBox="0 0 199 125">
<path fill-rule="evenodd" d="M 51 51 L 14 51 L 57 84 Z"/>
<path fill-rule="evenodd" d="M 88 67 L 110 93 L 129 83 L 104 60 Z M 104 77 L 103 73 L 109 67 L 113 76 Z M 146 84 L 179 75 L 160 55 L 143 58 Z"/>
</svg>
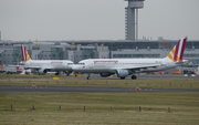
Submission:
<svg viewBox="0 0 199 125">
<path fill-rule="evenodd" d="M 136 72 L 156 72 L 168 70 L 176 64 L 165 59 L 90 59 L 73 65 L 73 71 L 82 73 L 115 73 L 118 69 Z M 154 67 L 153 67 L 154 66 Z M 140 69 L 142 67 L 142 69 Z"/>
</svg>

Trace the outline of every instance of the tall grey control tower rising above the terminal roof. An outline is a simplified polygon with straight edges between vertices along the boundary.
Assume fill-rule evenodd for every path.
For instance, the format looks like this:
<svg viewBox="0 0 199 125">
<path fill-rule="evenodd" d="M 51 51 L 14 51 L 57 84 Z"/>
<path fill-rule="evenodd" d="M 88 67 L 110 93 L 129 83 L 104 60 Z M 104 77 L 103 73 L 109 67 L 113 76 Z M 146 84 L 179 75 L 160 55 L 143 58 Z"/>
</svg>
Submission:
<svg viewBox="0 0 199 125">
<path fill-rule="evenodd" d="M 145 0 L 125 0 L 128 1 L 126 10 L 126 40 L 138 39 L 138 9 L 144 8 Z"/>
</svg>

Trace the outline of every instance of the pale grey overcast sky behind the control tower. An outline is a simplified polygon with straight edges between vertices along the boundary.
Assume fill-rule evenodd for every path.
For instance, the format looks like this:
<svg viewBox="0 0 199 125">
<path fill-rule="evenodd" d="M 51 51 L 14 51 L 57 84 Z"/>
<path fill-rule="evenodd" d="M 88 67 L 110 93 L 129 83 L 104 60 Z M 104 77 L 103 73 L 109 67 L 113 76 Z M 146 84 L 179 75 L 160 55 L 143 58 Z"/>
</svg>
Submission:
<svg viewBox="0 0 199 125">
<path fill-rule="evenodd" d="M 139 39 L 199 40 L 199 0 L 146 0 Z M 1 40 L 122 40 L 124 0 L 0 0 Z"/>
</svg>

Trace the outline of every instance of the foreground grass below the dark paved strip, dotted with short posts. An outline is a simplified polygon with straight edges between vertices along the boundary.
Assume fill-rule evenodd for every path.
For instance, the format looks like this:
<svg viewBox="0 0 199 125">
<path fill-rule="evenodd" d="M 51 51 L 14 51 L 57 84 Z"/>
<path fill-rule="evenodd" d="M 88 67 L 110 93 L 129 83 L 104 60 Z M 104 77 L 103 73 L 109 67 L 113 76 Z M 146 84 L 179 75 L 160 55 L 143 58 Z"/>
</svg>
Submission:
<svg viewBox="0 0 199 125">
<path fill-rule="evenodd" d="M 196 125 L 199 94 L 0 95 L 0 124 Z"/>
</svg>

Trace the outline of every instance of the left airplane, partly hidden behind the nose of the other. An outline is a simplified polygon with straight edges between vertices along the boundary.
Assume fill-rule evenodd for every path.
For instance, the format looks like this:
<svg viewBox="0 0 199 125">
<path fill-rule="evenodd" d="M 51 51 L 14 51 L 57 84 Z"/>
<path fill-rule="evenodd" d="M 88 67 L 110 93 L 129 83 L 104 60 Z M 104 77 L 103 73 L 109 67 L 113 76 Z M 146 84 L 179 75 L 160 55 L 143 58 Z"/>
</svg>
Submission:
<svg viewBox="0 0 199 125">
<path fill-rule="evenodd" d="M 65 72 L 69 76 L 72 73 L 73 62 L 70 60 L 31 60 L 25 46 L 21 45 L 22 59 L 20 64 L 25 70 L 35 70 L 39 74 L 46 74 L 48 72 L 56 72 L 59 75 L 61 71 Z"/>
</svg>

